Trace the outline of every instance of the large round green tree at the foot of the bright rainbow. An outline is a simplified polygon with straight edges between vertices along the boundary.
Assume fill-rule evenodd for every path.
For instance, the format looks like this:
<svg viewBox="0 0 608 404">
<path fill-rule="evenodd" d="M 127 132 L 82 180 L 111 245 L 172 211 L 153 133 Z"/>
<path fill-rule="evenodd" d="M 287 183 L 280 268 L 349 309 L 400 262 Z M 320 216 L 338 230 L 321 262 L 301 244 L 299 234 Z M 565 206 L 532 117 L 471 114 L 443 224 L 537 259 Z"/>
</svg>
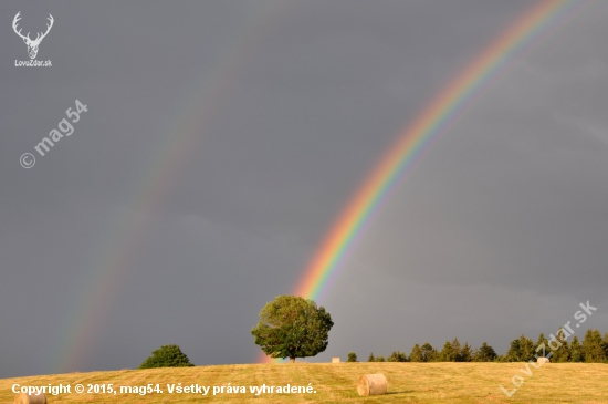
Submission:
<svg viewBox="0 0 608 404">
<path fill-rule="evenodd" d="M 277 296 L 260 311 L 260 322 L 251 330 L 255 344 L 271 358 L 314 356 L 325 351 L 334 325 L 324 307 L 295 296 Z"/>
</svg>

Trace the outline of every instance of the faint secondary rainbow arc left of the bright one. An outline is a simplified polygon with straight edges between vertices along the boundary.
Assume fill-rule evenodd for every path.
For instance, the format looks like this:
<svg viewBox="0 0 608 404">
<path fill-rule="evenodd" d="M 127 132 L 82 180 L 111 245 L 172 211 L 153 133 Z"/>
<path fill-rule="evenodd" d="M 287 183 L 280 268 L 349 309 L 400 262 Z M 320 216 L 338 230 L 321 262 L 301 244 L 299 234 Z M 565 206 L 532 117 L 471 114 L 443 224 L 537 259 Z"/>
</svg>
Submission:
<svg viewBox="0 0 608 404">
<path fill-rule="evenodd" d="M 175 111 L 167 127 L 167 135 L 158 142 L 154 154 L 139 169 L 139 179 L 125 206 L 109 215 L 105 228 L 101 229 L 99 241 L 92 252 L 90 263 L 83 270 L 81 290 L 66 299 L 56 348 L 45 359 L 48 373 L 67 373 L 90 367 L 88 360 L 99 350 L 99 334 L 108 324 L 113 301 L 119 294 L 122 283 L 129 280 L 128 268 L 145 237 L 155 221 L 171 190 L 175 178 L 184 162 L 192 155 L 195 147 L 205 137 L 205 127 L 213 117 L 239 72 L 263 39 L 292 6 L 273 2 L 251 6 L 249 14 L 227 40 L 220 54 L 209 55 L 213 60 L 208 72 L 201 73 L 198 82 L 189 86 L 188 94 Z"/>
</svg>

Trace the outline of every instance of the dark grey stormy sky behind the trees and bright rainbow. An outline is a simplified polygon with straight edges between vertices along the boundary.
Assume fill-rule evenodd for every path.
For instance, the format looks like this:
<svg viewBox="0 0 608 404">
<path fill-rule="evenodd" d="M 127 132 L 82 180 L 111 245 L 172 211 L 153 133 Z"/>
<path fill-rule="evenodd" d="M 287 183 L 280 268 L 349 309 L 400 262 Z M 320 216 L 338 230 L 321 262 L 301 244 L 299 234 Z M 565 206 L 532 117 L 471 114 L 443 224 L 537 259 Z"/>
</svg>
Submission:
<svg viewBox="0 0 608 404">
<path fill-rule="evenodd" d="M 420 111 L 532 1 L 2 1 L 0 377 L 251 363 L 250 330 Z M 39 61 L 23 33 L 54 25 Z M 608 6 L 518 55 L 319 301 L 327 351 L 608 331 Z M 44 156 L 75 100 L 88 111 Z M 35 166 L 21 167 L 32 153 Z"/>
</svg>

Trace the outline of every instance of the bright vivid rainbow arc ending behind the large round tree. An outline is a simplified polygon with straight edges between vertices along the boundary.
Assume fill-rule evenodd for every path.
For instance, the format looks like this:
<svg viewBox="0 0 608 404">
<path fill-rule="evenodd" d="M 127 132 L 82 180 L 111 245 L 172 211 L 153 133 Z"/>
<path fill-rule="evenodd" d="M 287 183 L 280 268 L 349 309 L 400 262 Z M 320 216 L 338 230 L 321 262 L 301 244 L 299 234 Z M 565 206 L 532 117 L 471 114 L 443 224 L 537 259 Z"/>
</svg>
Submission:
<svg viewBox="0 0 608 404">
<path fill-rule="evenodd" d="M 327 231 L 293 294 L 318 300 L 329 289 L 361 230 L 433 141 L 445 134 L 510 62 L 559 28 L 589 2 L 544 0 L 528 9 L 458 74 L 406 126 Z M 552 30 L 553 29 L 553 30 Z M 545 37 L 543 37 L 545 35 Z M 274 360 L 261 353 L 259 362 Z"/>
</svg>

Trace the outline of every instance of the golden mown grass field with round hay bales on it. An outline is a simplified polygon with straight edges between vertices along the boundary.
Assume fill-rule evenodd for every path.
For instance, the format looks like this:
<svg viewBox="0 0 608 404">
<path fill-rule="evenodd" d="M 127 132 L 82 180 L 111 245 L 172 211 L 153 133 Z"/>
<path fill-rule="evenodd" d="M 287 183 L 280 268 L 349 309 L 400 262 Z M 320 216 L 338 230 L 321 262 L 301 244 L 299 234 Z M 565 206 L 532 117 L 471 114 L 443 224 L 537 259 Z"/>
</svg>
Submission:
<svg viewBox="0 0 608 404">
<path fill-rule="evenodd" d="M 524 370 L 526 374 L 520 370 Z M 539 369 L 524 363 L 283 363 L 217 365 L 145 371 L 70 373 L 0 380 L 0 403 L 12 403 L 11 387 L 20 385 L 70 384 L 71 394 L 49 396 L 49 403 L 608 403 L 608 365 L 547 364 Z M 366 373 L 382 373 L 388 394 L 359 397 L 357 379 Z M 511 397 L 500 389 L 514 389 L 511 380 L 521 375 L 523 385 Z M 76 394 L 74 386 L 108 384 L 114 389 L 159 384 L 163 394 L 117 393 Z M 169 394 L 167 384 L 182 386 L 198 383 L 211 386 L 209 394 Z M 245 386 L 247 393 L 226 393 L 231 386 Z M 307 386 L 312 394 L 250 393 L 249 386 Z M 224 386 L 223 394 L 212 395 L 212 386 Z"/>
</svg>

